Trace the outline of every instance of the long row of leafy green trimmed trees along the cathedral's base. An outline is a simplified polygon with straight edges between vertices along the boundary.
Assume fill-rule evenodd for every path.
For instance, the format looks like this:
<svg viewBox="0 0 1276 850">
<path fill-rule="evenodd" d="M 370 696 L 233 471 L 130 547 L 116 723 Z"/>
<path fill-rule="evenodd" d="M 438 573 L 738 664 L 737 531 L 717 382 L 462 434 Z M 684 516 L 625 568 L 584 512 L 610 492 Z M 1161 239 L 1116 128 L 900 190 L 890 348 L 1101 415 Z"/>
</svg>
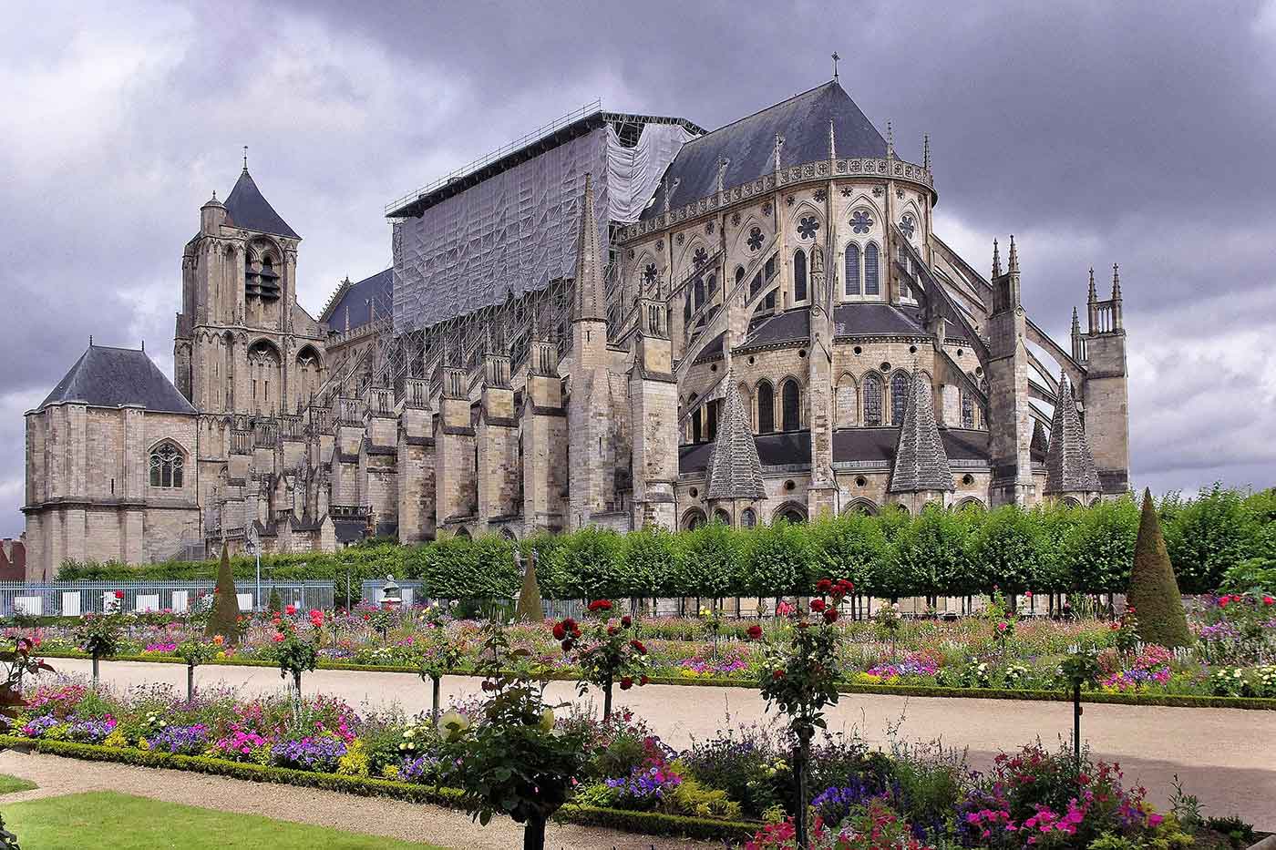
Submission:
<svg viewBox="0 0 1276 850">
<path fill-rule="evenodd" d="M 1166 545 L 1185 593 L 1220 587 L 1230 568 L 1261 574 L 1276 567 L 1276 490 L 1242 495 L 1215 486 L 1194 499 L 1176 494 L 1159 508 Z M 911 517 L 846 514 L 810 525 L 777 522 L 750 530 L 711 525 L 694 531 L 619 535 L 586 528 L 521 544 L 487 535 L 398 546 L 374 542 L 334 554 L 263 558 L 274 578 L 332 578 L 347 586 L 393 573 L 419 579 L 441 599 L 510 597 L 522 578 L 513 548 L 537 555 L 549 599 L 723 596 L 806 592 L 823 576 L 850 578 L 878 597 L 1005 593 L 1106 593 L 1129 582 L 1138 507 L 1131 499 L 1088 508 L 1014 507 L 960 512 L 929 508 Z M 237 577 L 253 562 L 236 559 Z M 211 578 L 213 562 L 64 565 L 64 579 Z M 1257 573 L 1254 570 L 1258 570 Z"/>
</svg>

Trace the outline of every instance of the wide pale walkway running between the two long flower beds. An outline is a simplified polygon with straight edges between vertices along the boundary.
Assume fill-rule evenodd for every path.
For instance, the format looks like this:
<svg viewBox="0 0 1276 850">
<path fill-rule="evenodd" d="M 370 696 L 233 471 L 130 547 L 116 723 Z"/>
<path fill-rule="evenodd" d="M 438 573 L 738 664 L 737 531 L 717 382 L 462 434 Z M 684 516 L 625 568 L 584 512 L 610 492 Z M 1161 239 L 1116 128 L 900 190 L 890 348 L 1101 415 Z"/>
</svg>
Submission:
<svg viewBox="0 0 1276 850">
<path fill-rule="evenodd" d="M 57 659 L 68 674 L 88 675 L 89 662 Z M 248 693 L 283 687 L 268 667 L 208 666 L 197 671 L 202 687 L 227 685 Z M 184 692 L 182 665 L 102 662 L 102 679 L 115 687 L 166 682 Z M 481 693 L 475 676 L 443 680 L 444 705 L 450 697 Z M 413 674 L 316 670 L 302 679 L 308 692 L 341 697 L 352 706 L 398 703 L 413 713 L 429 710 L 426 685 Z M 575 699 L 574 683 L 550 683 L 547 693 Z M 766 722 L 755 690 L 689 685 L 647 685 L 616 692 L 616 705 L 632 708 L 674 747 L 712 735 L 731 722 Z M 903 717 L 900 735 L 907 740 L 939 738 L 946 745 L 970 750 L 976 767 L 986 767 L 1002 749 L 1016 749 L 1041 739 L 1055 747 L 1072 730 L 1072 706 L 1064 702 L 957 699 L 845 694 L 831 712 L 831 729 L 857 727 L 874 744 L 884 744 L 888 724 Z M 1162 805 L 1173 793 L 1175 773 L 1184 790 L 1196 794 L 1208 814 L 1239 813 L 1258 828 L 1276 831 L 1276 712 L 1239 708 L 1169 708 L 1159 706 L 1086 705 L 1082 736 L 1097 758 L 1119 762 L 1128 781 L 1147 786 Z M 644 845 L 646 846 L 646 845 Z"/>
</svg>

